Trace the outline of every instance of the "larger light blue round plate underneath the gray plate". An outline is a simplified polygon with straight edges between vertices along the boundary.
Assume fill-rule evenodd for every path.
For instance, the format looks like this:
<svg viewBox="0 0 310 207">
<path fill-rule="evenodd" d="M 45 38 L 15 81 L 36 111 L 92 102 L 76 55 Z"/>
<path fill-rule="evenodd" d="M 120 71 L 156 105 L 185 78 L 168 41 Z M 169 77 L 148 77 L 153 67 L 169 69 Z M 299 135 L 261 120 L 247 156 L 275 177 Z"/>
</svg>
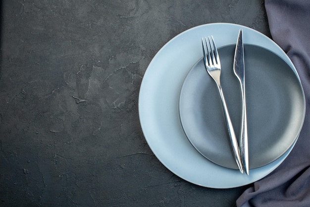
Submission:
<svg viewBox="0 0 310 207">
<path fill-rule="evenodd" d="M 171 39 L 155 55 L 142 80 L 139 117 L 149 146 L 171 172 L 200 186 L 233 188 L 253 183 L 280 165 L 294 146 L 270 164 L 251 169 L 247 176 L 207 160 L 184 134 L 179 117 L 179 94 L 187 73 L 202 58 L 201 38 L 213 35 L 218 47 L 235 44 L 240 28 L 245 44 L 273 51 L 297 74 L 287 55 L 265 35 L 241 25 L 212 23 L 194 27 Z"/>
</svg>

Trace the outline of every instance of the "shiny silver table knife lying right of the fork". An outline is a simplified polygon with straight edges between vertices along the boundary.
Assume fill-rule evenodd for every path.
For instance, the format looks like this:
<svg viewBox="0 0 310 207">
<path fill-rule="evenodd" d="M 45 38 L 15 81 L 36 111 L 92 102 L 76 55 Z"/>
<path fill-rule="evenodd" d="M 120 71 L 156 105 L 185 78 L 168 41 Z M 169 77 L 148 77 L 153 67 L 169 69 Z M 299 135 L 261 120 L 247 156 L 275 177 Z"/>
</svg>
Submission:
<svg viewBox="0 0 310 207">
<path fill-rule="evenodd" d="M 246 105 L 246 85 L 245 85 L 245 69 L 244 69 L 244 48 L 242 29 L 239 31 L 237 40 L 234 73 L 239 79 L 242 93 L 242 119 L 240 131 L 240 156 L 244 171 L 249 175 L 249 148 L 248 148 L 248 125 L 247 125 L 247 105 Z"/>
</svg>

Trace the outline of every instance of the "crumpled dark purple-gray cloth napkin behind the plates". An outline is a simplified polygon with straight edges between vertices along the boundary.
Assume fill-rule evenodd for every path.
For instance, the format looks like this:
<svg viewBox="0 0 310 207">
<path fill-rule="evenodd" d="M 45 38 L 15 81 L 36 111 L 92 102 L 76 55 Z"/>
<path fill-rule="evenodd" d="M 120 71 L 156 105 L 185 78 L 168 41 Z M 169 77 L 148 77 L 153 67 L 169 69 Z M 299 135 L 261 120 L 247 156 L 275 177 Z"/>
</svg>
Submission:
<svg viewBox="0 0 310 207">
<path fill-rule="evenodd" d="M 310 207 L 310 0 L 265 0 L 273 40 L 294 63 L 306 95 L 306 118 L 295 147 L 254 183 L 237 207 Z"/>
</svg>

